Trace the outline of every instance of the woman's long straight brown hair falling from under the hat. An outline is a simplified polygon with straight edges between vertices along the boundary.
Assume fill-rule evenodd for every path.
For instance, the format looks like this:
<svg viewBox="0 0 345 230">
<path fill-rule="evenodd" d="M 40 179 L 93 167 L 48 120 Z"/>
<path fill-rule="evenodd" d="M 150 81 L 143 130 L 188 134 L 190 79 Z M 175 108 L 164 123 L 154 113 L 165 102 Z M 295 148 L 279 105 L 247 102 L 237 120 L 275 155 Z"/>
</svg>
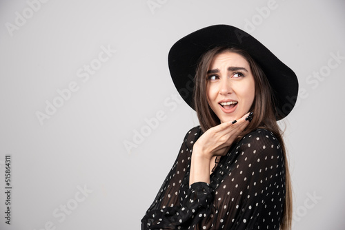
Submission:
<svg viewBox="0 0 345 230">
<path fill-rule="evenodd" d="M 210 127 L 220 124 L 219 118 L 208 105 L 206 96 L 206 72 L 214 56 L 223 52 L 234 52 L 243 56 L 250 65 L 250 70 L 255 81 L 255 98 L 253 105 L 250 107 L 250 112 L 253 112 L 253 120 L 246 127 L 244 132 L 242 132 L 242 135 L 235 140 L 235 142 L 239 141 L 243 136 L 246 136 L 246 134 L 253 132 L 255 129 L 264 128 L 273 132 L 273 134 L 277 136 L 282 147 L 285 160 L 286 198 L 280 228 L 282 230 L 290 230 L 293 214 L 292 188 L 288 161 L 286 158 L 286 149 L 282 138 L 283 132 L 276 121 L 276 119 L 280 118 L 279 110 L 275 107 L 275 96 L 266 75 L 248 52 L 238 48 L 222 46 L 209 50 L 201 57 L 195 74 L 194 88 L 194 105 L 201 129 L 205 132 L 207 129 L 210 129 Z"/>
</svg>

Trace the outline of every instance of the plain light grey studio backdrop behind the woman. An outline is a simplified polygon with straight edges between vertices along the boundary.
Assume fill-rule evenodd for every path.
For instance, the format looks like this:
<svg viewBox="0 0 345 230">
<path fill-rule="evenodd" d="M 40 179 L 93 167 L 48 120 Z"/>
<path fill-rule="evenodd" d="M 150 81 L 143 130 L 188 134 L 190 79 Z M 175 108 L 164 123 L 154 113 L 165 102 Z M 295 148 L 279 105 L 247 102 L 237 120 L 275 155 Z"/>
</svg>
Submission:
<svg viewBox="0 0 345 230">
<path fill-rule="evenodd" d="M 214 24 L 253 34 L 297 74 L 284 119 L 293 229 L 344 229 L 344 10 L 340 0 L 1 0 L 0 229 L 140 229 L 198 125 L 168 51 Z"/>
</svg>

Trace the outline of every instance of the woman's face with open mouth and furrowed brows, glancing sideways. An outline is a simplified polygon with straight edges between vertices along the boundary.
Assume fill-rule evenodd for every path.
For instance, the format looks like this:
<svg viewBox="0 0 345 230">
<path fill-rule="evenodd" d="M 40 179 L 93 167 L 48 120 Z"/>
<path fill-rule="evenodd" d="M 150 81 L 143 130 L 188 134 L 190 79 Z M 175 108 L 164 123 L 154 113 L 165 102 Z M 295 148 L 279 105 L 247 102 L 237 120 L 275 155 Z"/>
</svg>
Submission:
<svg viewBox="0 0 345 230">
<path fill-rule="evenodd" d="M 233 52 L 217 54 L 206 74 L 208 105 L 221 123 L 249 112 L 255 97 L 255 83 L 248 61 Z"/>
</svg>

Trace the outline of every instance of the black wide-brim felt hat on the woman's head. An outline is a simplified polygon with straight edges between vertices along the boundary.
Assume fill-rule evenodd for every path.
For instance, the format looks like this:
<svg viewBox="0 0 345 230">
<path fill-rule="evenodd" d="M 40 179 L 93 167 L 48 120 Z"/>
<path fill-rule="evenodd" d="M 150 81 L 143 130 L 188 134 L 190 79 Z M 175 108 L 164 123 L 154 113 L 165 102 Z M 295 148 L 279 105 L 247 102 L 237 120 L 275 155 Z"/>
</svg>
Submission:
<svg viewBox="0 0 345 230">
<path fill-rule="evenodd" d="M 284 45 L 284 44 L 282 44 Z M 279 118 L 287 116 L 295 106 L 298 93 L 297 76 L 262 43 L 253 36 L 231 25 L 211 25 L 179 39 L 168 54 L 172 81 L 179 94 L 190 107 L 196 67 L 201 56 L 217 46 L 245 50 L 259 64 L 267 76 L 276 98 Z"/>
</svg>

